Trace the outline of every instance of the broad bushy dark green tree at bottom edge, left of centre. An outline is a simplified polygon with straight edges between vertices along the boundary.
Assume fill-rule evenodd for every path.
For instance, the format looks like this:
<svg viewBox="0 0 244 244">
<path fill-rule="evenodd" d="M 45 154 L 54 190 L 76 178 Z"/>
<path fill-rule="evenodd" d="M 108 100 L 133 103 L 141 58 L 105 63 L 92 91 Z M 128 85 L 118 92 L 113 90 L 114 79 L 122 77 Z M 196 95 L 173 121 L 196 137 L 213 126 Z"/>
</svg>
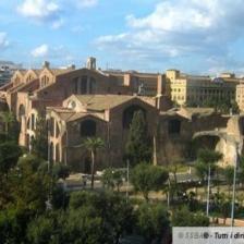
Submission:
<svg viewBox="0 0 244 244">
<path fill-rule="evenodd" d="M 69 243 L 118 243 L 134 227 L 133 211 L 130 202 L 112 192 L 72 193 L 64 227 L 72 239 Z"/>
</svg>

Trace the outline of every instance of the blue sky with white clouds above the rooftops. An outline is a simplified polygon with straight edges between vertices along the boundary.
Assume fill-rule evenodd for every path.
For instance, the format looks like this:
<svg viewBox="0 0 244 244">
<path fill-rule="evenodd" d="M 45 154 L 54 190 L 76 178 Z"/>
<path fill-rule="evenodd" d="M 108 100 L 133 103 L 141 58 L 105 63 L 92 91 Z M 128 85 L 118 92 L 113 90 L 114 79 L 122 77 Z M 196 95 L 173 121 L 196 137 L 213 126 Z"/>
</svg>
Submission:
<svg viewBox="0 0 244 244">
<path fill-rule="evenodd" d="M 0 0 L 0 60 L 244 74 L 243 0 Z"/>
</svg>

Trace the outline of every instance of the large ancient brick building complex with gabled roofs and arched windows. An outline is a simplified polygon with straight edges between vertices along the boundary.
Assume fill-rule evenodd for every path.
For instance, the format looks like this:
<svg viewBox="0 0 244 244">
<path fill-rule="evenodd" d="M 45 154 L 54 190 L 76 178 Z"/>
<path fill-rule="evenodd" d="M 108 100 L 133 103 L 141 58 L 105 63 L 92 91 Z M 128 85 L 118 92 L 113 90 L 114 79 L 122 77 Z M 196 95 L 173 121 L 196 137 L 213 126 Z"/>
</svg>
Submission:
<svg viewBox="0 0 244 244">
<path fill-rule="evenodd" d="M 171 163 L 187 158 L 195 133 L 228 133 L 230 120 L 212 109 L 172 109 L 171 85 L 169 72 L 101 71 L 94 58 L 83 69 L 51 69 L 45 62 L 40 70 L 16 71 L 10 83 L 0 87 L 0 110 L 9 107 L 16 115 L 20 145 L 28 149 L 38 114 L 46 114 L 51 161 L 83 172 L 89 171 L 89 155 L 82 147 L 88 136 L 99 136 L 106 143 L 98 152 L 98 169 L 123 166 L 130 123 L 134 112 L 142 110 L 154 142 L 154 163 Z"/>
</svg>

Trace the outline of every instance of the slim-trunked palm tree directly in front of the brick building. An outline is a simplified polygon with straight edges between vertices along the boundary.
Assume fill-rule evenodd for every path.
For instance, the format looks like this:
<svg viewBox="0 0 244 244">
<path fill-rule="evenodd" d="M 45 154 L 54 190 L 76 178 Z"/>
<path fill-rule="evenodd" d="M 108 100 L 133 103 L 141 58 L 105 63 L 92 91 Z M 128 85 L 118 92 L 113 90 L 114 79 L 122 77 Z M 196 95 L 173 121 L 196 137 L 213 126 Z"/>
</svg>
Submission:
<svg viewBox="0 0 244 244">
<path fill-rule="evenodd" d="M 95 174 L 95 161 L 96 161 L 96 152 L 97 149 L 100 149 L 105 146 L 105 142 L 99 137 L 88 137 L 83 143 L 83 146 L 90 152 L 90 159 L 91 159 L 91 188 L 94 188 L 94 174 Z"/>
</svg>

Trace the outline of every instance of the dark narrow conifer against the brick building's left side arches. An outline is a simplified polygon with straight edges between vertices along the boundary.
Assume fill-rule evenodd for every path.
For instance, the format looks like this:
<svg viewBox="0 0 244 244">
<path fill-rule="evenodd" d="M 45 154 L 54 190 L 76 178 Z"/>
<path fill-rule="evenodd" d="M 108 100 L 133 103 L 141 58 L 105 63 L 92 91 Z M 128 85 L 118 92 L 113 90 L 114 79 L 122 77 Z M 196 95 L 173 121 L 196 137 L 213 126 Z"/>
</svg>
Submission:
<svg viewBox="0 0 244 244">
<path fill-rule="evenodd" d="M 48 126 L 45 115 L 38 114 L 35 137 L 32 139 L 32 152 L 48 160 Z"/>
</svg>

